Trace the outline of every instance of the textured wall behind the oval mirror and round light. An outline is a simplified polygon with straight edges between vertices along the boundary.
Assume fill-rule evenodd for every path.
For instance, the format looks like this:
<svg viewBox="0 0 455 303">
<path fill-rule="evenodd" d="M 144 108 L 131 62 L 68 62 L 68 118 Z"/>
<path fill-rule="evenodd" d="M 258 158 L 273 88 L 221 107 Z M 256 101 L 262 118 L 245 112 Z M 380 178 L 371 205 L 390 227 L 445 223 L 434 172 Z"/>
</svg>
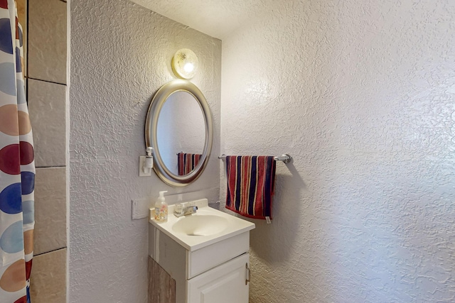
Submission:
<svg viewBox="0 0 455 303">
<path fill-rule="evenodd" d="M 131 200 L 218 188 L 220 151 L 183 189 L 137 177 L 146 111 L 191 48 L 219 138 L 221 43 L 124 0 L 73 0 L 70 13 L 70 302 L 146 302 L 148 222 L 132 221 Z"/>
</svg>

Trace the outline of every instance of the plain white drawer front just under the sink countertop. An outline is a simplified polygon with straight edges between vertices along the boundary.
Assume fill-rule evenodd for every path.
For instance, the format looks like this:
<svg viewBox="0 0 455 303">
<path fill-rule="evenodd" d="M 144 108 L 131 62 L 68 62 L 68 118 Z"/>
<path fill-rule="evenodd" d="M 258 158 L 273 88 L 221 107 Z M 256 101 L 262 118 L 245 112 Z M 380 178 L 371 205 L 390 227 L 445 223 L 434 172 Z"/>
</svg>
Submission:
<svg viewBox="0 0 455 303">
<path fill-rule="evenodd" d="M 187 250 L 186 279 L 191 279 L 250 250 L 250 231 L 199 250 Z"/>
</svg>

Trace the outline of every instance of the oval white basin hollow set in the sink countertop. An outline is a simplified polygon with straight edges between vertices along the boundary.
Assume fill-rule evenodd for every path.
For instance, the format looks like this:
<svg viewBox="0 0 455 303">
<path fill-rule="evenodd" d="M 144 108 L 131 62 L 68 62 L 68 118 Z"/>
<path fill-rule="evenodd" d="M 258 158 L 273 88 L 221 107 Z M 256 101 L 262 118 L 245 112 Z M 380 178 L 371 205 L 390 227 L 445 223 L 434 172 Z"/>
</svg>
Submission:
<svg viewBox="0 0 455 303">
<path fill-rule="evenodd" d="M 192 214 L 178 220 L 172 226 L 176 233 L 188 236 L 210 236 L 220 233 L 228 227 L 228 219 L 211 214 Z"/>
</svg>

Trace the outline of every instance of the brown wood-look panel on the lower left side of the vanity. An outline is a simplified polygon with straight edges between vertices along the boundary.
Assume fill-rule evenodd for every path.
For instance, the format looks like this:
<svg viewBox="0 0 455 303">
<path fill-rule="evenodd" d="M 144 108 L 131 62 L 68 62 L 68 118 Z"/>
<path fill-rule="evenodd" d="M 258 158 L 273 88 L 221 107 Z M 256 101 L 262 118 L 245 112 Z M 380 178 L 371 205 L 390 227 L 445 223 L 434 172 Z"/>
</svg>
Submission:
<svg viewBox="0 0 455 303">
<path fill-rule="evenodd" d="M 176 280 L 149 256 L 149 303 L 175 302 Z"/>
</svg>

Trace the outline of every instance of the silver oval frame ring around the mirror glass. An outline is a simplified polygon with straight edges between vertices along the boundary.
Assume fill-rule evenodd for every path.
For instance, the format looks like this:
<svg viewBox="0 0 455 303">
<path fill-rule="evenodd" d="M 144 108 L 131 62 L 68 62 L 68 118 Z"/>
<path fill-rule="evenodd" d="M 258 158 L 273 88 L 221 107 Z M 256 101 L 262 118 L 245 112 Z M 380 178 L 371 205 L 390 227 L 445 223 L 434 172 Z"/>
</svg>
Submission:
<svg viewBox="0 0 455 303">
<path fill-rule="evenodd" d="M 161 158 L 158 145 L 158 136 L 156 136 L 156 131 L 158 128 L 158 118 L 161 108 L 164 105 L 164 102 L 168 97 L 174 92 L 188 92 L 191 94 L 200 106 L 200 109 L 203 112 L 205 120 L 205 143 L 202 157 L 200 158 L 198 165 L 191 171 L 188 175 L 179 176 L 171 172 L 171 170 L 166 167 Z M 210 109 L 208 107 L 207 100 L 200 89 L 196 87 L 193 83 L 183 80 L 175 79 L 171 82 L 164 84 L 158 92 L 154 95 L 151 100 L 149 111 L 147 111 L 147 117 L 145 121 L 145 144 L 146 148 L 154 148 L 154 170 L 156 175 L 160 177 L 161 180 L 166 182 L 171 186 L 182 187 L 194 182 L 205 169 L 208 163 L 208 157 L 212 150 L 213 143 L 213 125 L 212 125 L 212 115 L 210 114 Z"/>
</svg>

